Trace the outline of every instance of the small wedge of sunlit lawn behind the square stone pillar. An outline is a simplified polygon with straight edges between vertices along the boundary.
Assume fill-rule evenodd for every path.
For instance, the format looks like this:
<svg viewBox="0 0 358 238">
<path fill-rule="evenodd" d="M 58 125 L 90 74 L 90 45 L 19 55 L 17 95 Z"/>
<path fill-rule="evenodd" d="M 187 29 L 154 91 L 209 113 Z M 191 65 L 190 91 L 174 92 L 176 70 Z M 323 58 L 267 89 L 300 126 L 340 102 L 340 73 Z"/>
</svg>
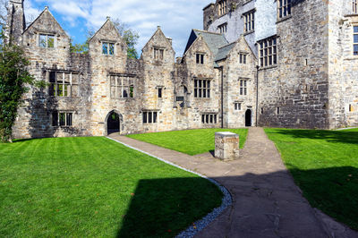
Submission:
<svg viewBox="0 0 358 238">
<path fill-rule="evenodd" d="M 166 149 L 173 149 L 191 156 L 215 149 L 215 132 L 234 132 L 240 136 L 240 148 L 243 149 L 247 129 L 198 129 L 174 132 L 153 132 L 132 134 L 128 137 L 142 140 Z"/>
</svg>

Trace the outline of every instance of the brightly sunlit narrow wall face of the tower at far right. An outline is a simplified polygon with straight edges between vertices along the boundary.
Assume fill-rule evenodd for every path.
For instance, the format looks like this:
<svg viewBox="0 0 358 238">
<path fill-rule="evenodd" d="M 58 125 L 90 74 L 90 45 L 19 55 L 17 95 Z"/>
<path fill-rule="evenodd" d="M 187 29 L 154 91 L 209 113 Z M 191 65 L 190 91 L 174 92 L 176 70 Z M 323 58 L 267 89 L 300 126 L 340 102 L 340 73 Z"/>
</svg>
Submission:
<svg viewBox="0 0 358 238">
<path fill-rule="evenodd" d="M 329 127 L 358 126 L 358 55 L 354 26 L 358 15 L 352 2 L 329 4 Z M 355 23 L 354 23 L 355 22 Z"/>
</svg>

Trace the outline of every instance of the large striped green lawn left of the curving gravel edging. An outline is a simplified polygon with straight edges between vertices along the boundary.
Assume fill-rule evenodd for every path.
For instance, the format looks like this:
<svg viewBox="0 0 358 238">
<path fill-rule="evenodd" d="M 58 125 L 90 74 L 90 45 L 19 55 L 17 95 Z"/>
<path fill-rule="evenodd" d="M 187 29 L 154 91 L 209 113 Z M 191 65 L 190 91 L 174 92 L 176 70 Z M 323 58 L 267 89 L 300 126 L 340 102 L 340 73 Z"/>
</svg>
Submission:
<svg viewBox="0 0 358 238">
<path fill-rule="evenodd" d="M 206 179 L 106 138 L 0 144 L 0 237 L 174 236 L 221 198 Z"/>
</svg>

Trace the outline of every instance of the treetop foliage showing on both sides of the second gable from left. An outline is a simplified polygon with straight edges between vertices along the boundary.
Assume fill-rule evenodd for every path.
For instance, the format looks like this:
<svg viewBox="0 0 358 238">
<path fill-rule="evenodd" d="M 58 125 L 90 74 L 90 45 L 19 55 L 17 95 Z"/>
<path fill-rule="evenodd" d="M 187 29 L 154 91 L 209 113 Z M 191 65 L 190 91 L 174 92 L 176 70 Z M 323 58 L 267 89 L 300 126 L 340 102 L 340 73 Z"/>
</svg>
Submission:
<svg viewBox="0 0 358 238">
<path fill-rule="evenodd" d="M 122 36 L 125 43 L 127 44 L 128 58 L 133 58 L 133 59 L 138 58 L 139 55 L 137 53 L 137 50 L 135 49 L 135 46 L 137 45 L 138 39 L 140 38 L 139 34 L 136 31 L 130 29 L 126 23 L 120 21 L 119 19 L 115 19 L 113 23 L 115 24 L 115 28 L 118 30 L 119 34 Z M 95 33 L 96 32 L 94 30 L 89 30 L 87 34 L 87 40 L 85 43 L 73 45 L 71 41 L 71 52 L 88 54 L 89 40 Z"/>
</svg>

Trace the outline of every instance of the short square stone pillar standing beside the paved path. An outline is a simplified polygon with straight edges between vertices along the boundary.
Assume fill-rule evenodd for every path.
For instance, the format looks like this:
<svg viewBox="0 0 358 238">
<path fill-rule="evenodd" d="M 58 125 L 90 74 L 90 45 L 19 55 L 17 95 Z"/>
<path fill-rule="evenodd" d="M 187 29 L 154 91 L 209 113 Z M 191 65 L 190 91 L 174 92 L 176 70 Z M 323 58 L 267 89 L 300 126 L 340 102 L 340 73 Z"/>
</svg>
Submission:
<svg viewBox="0 0 358 238">
<path fill-rule="evenodd" d="M 239 158 L 239 135 L 233 132 L 215 132 L 215 157 L 222 160 Z"/>
</svg>

